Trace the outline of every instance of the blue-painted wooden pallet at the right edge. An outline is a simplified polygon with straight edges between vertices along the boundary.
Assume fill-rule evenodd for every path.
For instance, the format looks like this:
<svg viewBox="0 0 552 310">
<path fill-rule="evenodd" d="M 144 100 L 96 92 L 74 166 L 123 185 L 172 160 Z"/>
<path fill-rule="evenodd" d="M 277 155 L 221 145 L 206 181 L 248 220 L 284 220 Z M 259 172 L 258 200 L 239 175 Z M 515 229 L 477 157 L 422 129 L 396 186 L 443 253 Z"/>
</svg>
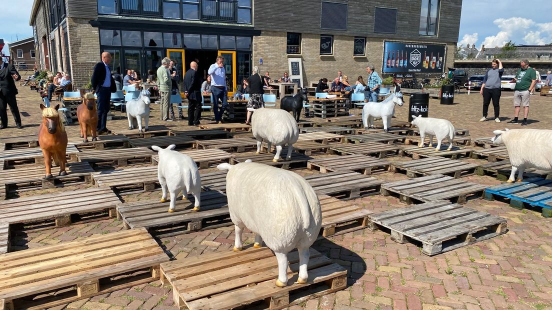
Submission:
<svg viewBox="0 0 552 310">
<path fill-rule="evenodd" d="M 544 217 L 552 217 L 552 180 L 527 178 L 522 182 L 503 183 L 485 190 L 486 200 L 509 199 L 510 206 L 523 209 L 524 204 L 543 208 Z"/>
</svg>

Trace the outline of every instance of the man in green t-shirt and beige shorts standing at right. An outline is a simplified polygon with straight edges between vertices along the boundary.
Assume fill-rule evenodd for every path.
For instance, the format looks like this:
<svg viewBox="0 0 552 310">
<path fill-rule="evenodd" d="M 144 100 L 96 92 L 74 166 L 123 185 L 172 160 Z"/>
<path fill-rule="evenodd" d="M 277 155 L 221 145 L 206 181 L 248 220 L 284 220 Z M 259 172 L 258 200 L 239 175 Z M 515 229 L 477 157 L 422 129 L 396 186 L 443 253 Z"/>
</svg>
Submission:
<svg viewBox="0 0 552 310">
<path fill-rule="evenodd" d="M 532 67 L 529 67 L 528 60 L 522 60 L 521 69 L 516 73 L 514 81 L 516 81 L 516 88 L 514 88 L 514 119 L 509 121 L 508 124 L 519 124 L 518 116 L 520 106 L 523 106 L 523 121 L 522 126 L 527 125 L 527 115 L 529 115 L 529 94 L 535 89 L 535 83 L 537 82 L 537 72 Z"/>
</svg>

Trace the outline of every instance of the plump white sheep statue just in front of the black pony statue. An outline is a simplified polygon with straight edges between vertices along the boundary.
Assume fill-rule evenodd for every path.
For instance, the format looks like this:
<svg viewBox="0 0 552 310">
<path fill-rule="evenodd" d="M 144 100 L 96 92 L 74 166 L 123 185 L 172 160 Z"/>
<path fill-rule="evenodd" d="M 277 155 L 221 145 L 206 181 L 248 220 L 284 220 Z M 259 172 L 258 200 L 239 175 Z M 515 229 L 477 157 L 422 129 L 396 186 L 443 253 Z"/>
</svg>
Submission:
<svg viewBox="0 0 552 310">
<path fill-rule="evenodd" d="M 257 154 L 261 153 L 263 141 L 267 141 L 267 149 L 270 152 L 272 144 L 276 146 L 276 154 L 272 159 L 278 162 L 282 147 L 288 144 L 288 156 L 286 161 L 291 159 L 293 143 L 299 139 L 299 126 L 288 111 L 280 109 L 256 109 L 251 116 L 251 130 L 253 137 L 257 139 Z"/>
</svg>

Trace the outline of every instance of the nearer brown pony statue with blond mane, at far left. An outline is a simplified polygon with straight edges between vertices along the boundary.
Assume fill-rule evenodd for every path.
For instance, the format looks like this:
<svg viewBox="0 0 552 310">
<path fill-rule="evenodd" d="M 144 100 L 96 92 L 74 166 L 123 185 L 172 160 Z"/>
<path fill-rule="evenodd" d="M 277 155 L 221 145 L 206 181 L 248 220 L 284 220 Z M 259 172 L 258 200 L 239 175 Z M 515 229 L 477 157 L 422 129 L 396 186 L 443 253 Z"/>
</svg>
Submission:
<svg viewBox="0 0 552 310">
<path fill-rule="evenodd" d="M 52 178 L 52 158 L 56 165 L 60 166 L 60 175 L 67 175 L 65 171 L 65 165 L 67 164 L 67 158 L 65 157 L 65 152 L 67 151 L 67 133 L 61 122 L 60 114 L 57 112 L 59 108 L 59 104 L 55 108 L 51 106 L 46 108 L 43 104 L 40 105 L 42 124 L 40 124 L 38 129 L 38 143 L 42 149 L 44 164 L 46 165 L 45 179 Z"/>
</svg>

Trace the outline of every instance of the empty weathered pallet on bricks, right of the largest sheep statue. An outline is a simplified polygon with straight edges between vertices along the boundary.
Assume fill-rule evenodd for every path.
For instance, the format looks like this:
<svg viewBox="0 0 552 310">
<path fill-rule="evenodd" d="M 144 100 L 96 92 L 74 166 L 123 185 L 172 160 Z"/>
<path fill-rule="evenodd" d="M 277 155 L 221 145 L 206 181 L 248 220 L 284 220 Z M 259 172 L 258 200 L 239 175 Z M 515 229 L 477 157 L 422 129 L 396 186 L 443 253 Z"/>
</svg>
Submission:
<svg viewBox="0 0 552 310">
<path fill-rule="evenodd" d="M 436 255 L 506 233 L 506 219 L 446 200 L 372 214 L 370 228 L 384 227 L 391 239 L 422 243 L 422 253 Z"/>
</svg>

